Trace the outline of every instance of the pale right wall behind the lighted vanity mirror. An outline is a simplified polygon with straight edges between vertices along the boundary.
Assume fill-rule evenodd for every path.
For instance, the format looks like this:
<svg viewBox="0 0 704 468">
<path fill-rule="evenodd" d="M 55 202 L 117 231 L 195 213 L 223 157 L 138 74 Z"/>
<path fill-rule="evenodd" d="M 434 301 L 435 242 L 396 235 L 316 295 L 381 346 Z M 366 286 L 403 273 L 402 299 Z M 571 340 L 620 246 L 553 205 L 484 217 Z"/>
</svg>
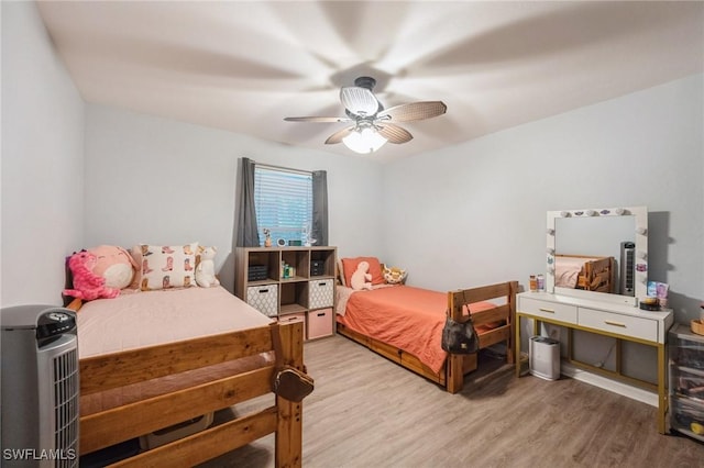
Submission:
<svg viewBox="0 0 704 468">
<path fill-rule="evenodd" d="M 649 277 L 678 321 L 698 317 L 703 89 L 696 75 L 385 167 L 384 231 L 408 233 L 385 237 L 387 261 L 435 289 L 525 286 L 546 270 L 546 211 L 647 205 Z"/>
</svg>

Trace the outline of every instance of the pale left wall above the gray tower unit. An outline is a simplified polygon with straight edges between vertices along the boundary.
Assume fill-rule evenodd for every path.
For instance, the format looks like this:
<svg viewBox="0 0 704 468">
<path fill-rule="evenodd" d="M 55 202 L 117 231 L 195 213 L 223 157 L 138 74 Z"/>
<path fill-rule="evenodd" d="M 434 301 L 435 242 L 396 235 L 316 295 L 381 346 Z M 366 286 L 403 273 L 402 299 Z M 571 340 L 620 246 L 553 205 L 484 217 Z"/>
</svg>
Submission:
<svg viewBox="0 0 704 468">
<path fill-rule="evenodd" d="M 61 304 L 82 242 L 84 102 L 34 2 L 2 2 L 0 305 Z"/>
</svg>

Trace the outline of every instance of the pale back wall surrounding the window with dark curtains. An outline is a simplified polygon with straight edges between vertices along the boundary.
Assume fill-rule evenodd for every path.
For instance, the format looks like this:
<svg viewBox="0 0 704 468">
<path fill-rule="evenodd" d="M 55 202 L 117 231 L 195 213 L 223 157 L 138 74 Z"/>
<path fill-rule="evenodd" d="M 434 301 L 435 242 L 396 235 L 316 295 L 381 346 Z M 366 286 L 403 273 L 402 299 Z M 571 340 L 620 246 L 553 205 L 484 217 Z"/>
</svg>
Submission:
<svg viewBox="0 0 704 468">
<path fill-rule="evenodd" d="M 85 247 L 136 243 L 218 247 L 234 281 L 238 158 L 328 171 L 329 244 L 382 255 L 382 166 L 102 105 L 87 107 Z"/>
</svg>

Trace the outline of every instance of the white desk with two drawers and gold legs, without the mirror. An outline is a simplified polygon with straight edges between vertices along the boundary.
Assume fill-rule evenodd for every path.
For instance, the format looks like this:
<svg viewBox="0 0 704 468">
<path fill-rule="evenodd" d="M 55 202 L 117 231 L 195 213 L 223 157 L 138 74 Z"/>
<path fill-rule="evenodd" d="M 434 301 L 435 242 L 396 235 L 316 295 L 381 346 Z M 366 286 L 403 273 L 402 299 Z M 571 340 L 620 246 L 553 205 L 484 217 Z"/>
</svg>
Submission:
<svg viewBox="0 0 704 468">
<path fill-rule="evenodd" d="M 547 292 L 521 292 L 517 294 L 516 308 L 516 376 L 520 375 L 520 319 L 534 320 L 534 334 L 539 333 L 540 323 L 564 326 L 570 332 L 570 361 L 580 367 L 607 375 L 658 391 L 658 431 L 666 433 L 668 395 L 666 391 L 666 342 L 668 331 L 674 323 L 672 310 L 659 312 L 644 311 L 636 307 L 594 301 L 590 299 L 558 296 Z M 632 377 L 580 363 L 572 358 L 572 331 L 581 330 L 598 335 L 610 336 L 619 341 L 653 346 L 658 350 L 658 383 L 644 382 Z M 617 363 L 620 353 L 617 348 Z"/>
</svg>

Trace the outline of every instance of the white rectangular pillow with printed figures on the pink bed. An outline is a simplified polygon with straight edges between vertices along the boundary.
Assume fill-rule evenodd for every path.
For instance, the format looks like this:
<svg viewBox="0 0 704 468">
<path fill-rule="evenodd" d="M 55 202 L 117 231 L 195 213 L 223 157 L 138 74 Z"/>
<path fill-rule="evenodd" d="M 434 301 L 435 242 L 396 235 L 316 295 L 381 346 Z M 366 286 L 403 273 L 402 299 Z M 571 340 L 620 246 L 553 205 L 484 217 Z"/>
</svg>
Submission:
<svg viewBox="0 0 704 468">
<path fill-rule="evenodd" d="M 186 245 L 140 244 L 142 291 L 196 286 L 198 243 Z"/>
</svg>

